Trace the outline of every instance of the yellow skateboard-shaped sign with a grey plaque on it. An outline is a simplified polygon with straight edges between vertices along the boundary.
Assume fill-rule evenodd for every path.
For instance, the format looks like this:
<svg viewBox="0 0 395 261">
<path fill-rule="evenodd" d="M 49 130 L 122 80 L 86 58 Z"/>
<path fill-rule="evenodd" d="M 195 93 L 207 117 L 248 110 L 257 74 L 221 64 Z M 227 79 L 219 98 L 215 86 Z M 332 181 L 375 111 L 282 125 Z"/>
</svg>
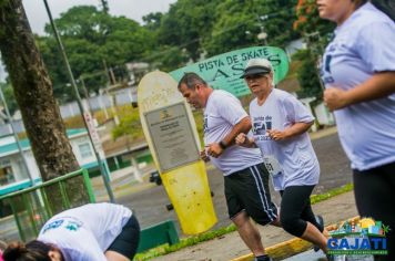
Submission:
<svg viewBox="0 0 395 261">
<path fill-rule="evenodd" d="M 164 72 L 146 74 L 138 87 L 142 128 L 163 186 L 186 234 L 216 222 L 200 140 L 190 106 Z"/>
</svg>

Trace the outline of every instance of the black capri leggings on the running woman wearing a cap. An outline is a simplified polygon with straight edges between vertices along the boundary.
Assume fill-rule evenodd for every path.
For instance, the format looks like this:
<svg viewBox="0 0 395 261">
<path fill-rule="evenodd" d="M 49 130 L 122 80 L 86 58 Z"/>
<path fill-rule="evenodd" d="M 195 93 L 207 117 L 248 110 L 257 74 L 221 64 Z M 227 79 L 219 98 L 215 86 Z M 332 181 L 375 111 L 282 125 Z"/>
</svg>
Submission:
<svg viewBox="0 0 395 261">
<path fill-rule="evenodd" d="M 314 225 L 321 232 L 321 228 L 310 202 L 310 195 L 314 186 L 290 186 L 281 190 L 280 221 L 283 229 L 295 236 L 301 237 L 307 227 L 307 221 Z"/>
</svg>

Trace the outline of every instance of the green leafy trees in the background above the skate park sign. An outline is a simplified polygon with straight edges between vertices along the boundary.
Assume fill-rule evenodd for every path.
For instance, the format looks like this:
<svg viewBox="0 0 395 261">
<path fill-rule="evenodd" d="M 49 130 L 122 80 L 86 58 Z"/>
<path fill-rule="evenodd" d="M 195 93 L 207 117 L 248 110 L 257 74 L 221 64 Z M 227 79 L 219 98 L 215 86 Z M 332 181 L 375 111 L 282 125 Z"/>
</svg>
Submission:
<svg viewBox="0 0 395 261">
<path fill-rule="evenodd" d="M 302 34 L 311 51 L 301 51 L 294 60 L 301 64 L 300 95 L 321 97 L 315 61 L 333 30 L 333 25 L 318 18 L 313 0 L 178 0 L 166 13 L 145 15 L 143 24 L 93 6 L 79 6 L 62 13 L 55 23 L 78 84 L 82 85 L 83 80 L 89 93 L 99 92 L 112 81 L 107 67 L 115 81 L 128 81 L 126 62 L 148 62 L 151 69 L 169 72 L 204 55 L 240 48 L 257 44 L 284 48 Z M 37 35 L 37 42 L 49 69 L 53 93 L 61 103 L 74 101 L 49 24 L 45 32 L 47 35 Z M 267 34 L 266 43 L 257 39 L 262 32 Z M 134 112 L 121 122 L 114 137 L 140 129 Z"/>
</svg>

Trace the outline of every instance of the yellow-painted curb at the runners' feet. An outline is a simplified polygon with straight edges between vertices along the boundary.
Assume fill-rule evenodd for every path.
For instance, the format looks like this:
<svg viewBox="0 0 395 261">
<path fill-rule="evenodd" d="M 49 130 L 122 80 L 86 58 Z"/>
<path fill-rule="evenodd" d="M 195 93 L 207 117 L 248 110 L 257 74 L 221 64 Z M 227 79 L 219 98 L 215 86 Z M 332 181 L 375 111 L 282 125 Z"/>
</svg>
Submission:
<svg viewBox="0 0 395 261">
<path fill-rule="evenodd" d="M 359 217 L 354 217 L 347 219 L 348 221 L 357 222 Z M 343 222 L 343 221 L 341 221 Z M 337 225 L 330 225 L 326 228 L 327 231 L 336 229 Z M 265 248 L 266 254 L 269 254 L 273 260 L 283 260 L 286 258 L 291 258 L 297 253 L 307 251 L 312 249 L 313 244 L 300 238 L 293 238 L 287 241 L 271 246 Z M 252 253 L 232 259 L 232 261 L 253 261 L 254 255 Z"/>
</svg>

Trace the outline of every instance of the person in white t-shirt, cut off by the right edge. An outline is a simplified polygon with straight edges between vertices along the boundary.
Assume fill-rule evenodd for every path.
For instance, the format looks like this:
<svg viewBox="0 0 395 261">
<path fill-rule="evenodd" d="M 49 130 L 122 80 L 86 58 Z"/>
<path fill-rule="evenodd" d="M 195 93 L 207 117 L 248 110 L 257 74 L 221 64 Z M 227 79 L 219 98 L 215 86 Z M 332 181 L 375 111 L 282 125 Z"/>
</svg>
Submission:
<svg viewBox="0 0 395 261">
<path fill-rule="evenodd" d="M 316 4 L 321 18 L 337 24 L 321 76 L 352 163 L 356 207 L 389 226 L 388 255 L 375 259 L 395 260 L 395 23 L 364 0 Z"/>
</svg>

